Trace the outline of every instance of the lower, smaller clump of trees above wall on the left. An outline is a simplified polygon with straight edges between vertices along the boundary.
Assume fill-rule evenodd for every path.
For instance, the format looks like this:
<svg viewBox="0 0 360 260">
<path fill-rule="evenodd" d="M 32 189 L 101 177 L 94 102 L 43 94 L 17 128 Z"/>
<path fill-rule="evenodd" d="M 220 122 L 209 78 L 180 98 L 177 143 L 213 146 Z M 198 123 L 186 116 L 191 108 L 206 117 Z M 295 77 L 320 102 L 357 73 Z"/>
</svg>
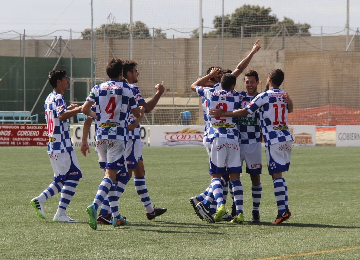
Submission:
<svg viewBox="0 0 360 260">
<path fill-rule="evenodd" d="M 105 36 L 112 39 L 128 39 L 130 35 L 129 23 L 107 23 L 101 24 L 99 28 L 95 28 L 93 32 L 94 38 L 103 38 Z M 160 29 L 155 29 L 155 37 L 166 39 L 166 33 L 161 33 Z M 91 29 L 85 29 L 81 33 L 82 39 L 90 39 Z M 151 38 L 148 26 L 141 22 L 136 21 L 132 27 L 133 39 L 149 39 Z"/>
</svg>

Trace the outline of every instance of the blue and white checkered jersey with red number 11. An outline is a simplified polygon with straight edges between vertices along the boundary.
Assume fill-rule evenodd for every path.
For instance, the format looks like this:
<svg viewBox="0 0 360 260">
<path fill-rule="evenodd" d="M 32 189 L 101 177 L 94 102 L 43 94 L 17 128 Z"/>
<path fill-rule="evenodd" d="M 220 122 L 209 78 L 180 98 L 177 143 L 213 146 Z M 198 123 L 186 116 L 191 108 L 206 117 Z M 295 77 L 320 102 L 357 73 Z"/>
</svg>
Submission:
<svg viewBox="0 0 360 260">
<path fill-rule="evenodd" d="M 265 146 L 284 141 L 293 141 L 288 127 L 288 105 L 283 102 L 282 89 L 271 88 L 258 94 L 245 109 L 259 112 Z"/>
</svg>

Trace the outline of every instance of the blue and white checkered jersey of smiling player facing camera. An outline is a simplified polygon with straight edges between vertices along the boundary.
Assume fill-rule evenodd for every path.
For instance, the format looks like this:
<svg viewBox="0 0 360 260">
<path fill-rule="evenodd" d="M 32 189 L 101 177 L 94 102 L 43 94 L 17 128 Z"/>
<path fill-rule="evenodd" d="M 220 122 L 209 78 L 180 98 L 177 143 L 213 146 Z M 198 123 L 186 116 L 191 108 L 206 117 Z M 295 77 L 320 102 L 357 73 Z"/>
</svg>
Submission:
<svg viewBox="0 0 360 260">
<path fill-rule="evenodd" d="M 256 97 L 256 95 L 249 96 L 246 91 L 238 91 L 238 93 L 240 98 L 239 108 L 246 107 Z M 241 144 L 261 142 L 258 112 L 238 117 L 237 126 Z"/>
</svg>

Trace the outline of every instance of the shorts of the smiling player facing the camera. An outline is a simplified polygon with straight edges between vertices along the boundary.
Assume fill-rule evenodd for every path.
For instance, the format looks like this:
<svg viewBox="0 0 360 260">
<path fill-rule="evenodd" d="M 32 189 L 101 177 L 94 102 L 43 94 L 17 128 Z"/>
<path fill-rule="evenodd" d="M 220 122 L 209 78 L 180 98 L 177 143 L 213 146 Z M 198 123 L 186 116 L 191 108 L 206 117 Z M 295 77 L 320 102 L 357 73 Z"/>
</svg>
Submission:
<svg viewBox="0 0 360 260">
<path fill-rule="evenodd" d="M 246 162 L 246 173 L 261 174 L 261 142 L 240 144 L 241 166 Z"/>
</svg>

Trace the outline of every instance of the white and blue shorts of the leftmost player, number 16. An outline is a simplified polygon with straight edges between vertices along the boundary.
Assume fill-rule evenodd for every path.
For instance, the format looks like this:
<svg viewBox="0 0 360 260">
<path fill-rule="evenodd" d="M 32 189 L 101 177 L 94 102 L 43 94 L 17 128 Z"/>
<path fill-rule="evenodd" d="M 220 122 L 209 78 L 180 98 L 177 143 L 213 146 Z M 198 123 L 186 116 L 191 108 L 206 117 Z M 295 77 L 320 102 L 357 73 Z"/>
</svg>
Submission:
<svg viewBox="0 0 360 260">
<path fill-rule="evenodd" d="M 54 181 L 82 178 L 75 151 L 48 154 L 54 170 Z"/>
</svg>

